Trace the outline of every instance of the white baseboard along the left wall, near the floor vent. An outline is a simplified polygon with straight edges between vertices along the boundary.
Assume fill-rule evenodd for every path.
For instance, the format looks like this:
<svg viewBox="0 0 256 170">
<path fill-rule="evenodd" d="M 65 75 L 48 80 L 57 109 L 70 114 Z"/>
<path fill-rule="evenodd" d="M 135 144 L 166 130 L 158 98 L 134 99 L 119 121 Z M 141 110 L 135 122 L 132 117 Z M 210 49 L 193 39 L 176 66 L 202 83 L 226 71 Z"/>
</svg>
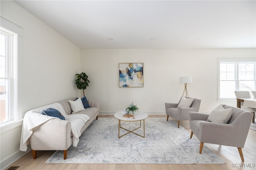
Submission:
<svg viewBox="0 0 256 170">
<path fill-rule="evenodd" d="M 26 152 L 23 151 L 18 151 L 15 154 L 13 154 L 12 156 L 10 156 L 9 158 L 6 158 L 5 160 L 3 160 L 0 163 L 0 169 L 4 170 L 5 168 L 7 168 L 8 166 L 10 166 L 10 164 L 14 163 L 16 160 L 20 159 L 22 156 L 24 156 L 26 153 L 30 152 L 31 147 L 30 145 L 28 145 L 28 150 Z M 32 155 L 31 155 L 32 157 Z"/>
</svg>

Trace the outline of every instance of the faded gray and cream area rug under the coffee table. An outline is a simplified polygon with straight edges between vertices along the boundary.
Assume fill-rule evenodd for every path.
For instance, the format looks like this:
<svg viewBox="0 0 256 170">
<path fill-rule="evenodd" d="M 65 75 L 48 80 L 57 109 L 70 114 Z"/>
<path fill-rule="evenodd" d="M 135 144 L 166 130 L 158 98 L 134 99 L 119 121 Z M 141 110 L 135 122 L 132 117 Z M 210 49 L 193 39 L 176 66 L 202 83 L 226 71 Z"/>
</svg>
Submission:
<svg viewBox="0 0 256 170">
<path fill-rule="evenodd" d="M 132 118 L 131 118 L 132 119 Z M 134 129 L 140 122 L 121 125 Z M 120 135 L 127 131 L 120 129 Z M 143 135 L 142 127 L 134 131 Z M 68 148 L 67 159 L 63 151 L 56 151 L 45 163 L 63 164 L 225 164 L 219 156 L 204 146 L 199 154 L 200 142 L 176 121 L 166 118 L 147 118 L 145 138 L 129 133 L 118 138 L 118 120 L 99 118 L 80 136 L 77 147 Z"/>
</svg>

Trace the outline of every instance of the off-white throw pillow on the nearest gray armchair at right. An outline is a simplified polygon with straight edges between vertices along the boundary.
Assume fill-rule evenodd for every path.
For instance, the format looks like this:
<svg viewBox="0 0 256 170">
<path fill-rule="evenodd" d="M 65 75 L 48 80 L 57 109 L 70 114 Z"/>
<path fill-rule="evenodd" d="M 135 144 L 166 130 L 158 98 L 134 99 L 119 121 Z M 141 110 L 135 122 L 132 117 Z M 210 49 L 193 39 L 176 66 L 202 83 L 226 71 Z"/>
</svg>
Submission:
<svg viewBox="0 0 256 170">
<path fill-rule="evenodd" d="M 222 105 L 221 105 L 222 107 Z M 221 109 L 220 106 L 216 107 L 216 110 L 213 110 L 207 121 L 209 122 L 215 122 L 215 123 L 228 123 L 229 119 L 231 118 L 232 115 L 232 108 L 228 108 L 228 109 Z"/>
</svg>

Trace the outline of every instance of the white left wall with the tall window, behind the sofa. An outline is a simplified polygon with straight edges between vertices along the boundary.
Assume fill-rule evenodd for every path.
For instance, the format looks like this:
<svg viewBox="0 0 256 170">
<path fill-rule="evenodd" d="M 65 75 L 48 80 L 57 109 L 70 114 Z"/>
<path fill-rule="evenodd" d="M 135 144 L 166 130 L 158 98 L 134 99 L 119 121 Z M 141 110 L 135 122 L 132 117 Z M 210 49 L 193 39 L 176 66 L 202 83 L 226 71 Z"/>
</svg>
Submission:
<svg viewBox="0 0 256 170">
<path fill-rule="evenodd" d="M 80 49 L 13 1 L 1 1 L 1 16 L 23 28 L 18 63 L 18 105 L 26 111 L 78 96 Z M 18 44 L 20 45 L 20 44 Z M 19 152 L 21 126 L 0 134 L 1 169 Z M 8 161 L 7 161 L 8 162 Z"/>
</svg>

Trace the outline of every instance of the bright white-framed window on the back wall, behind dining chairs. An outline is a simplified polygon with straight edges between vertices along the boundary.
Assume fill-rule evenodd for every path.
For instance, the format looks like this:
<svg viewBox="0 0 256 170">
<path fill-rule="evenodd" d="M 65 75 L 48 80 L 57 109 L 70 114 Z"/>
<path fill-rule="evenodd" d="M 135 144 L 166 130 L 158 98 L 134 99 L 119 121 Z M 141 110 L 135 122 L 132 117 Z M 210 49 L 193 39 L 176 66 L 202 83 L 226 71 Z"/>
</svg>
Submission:
<svg viewBox="0 0 256 170">
<path fill-rule="evenodd" d="M 218 99 L 235 99 L 234 91 L 255 91 L 256 59 L 218 59 Z"/>
</svg>

